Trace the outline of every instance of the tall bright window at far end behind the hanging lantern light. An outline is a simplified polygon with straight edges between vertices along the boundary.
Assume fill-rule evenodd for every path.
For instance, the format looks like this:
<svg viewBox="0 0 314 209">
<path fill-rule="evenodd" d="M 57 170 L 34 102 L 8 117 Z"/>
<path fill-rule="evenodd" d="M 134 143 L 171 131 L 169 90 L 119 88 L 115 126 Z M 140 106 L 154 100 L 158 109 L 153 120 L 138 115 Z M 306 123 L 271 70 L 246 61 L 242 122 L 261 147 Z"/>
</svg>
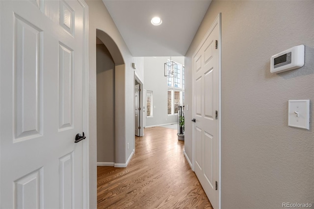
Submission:
<svg viewBox="0 0 314 209">
<path fill-rule="evenodd" d="M 178 114 L 184 104 L 184 67 L 176 63 L 175 77 L 168 78 L 168 115 Z"/>
</svg>

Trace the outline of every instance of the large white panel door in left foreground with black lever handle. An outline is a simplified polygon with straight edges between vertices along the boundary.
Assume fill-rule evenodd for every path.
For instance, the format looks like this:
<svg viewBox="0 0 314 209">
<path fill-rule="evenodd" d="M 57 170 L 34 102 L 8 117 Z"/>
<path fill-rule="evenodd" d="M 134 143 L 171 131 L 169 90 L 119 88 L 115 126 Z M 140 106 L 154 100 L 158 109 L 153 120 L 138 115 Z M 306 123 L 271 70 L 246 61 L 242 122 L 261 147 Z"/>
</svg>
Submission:
<svg viewBox="0 0 314 209">
<path fill-rule="evenodd" d="M 85 3 L 0 9 L 1 208 L 83 208 Z"/>
</svg>

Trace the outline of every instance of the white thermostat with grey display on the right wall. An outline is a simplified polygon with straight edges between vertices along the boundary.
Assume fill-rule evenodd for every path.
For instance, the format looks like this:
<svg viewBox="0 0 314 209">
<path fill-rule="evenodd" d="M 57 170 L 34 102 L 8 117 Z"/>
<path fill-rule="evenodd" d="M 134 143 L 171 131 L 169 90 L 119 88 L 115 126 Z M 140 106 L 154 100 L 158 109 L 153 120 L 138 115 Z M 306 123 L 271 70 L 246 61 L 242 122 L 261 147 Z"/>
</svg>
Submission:
<svg viewBox="0 0 314 209">
<path fill-rule="evenodd" d="M 304 65 L 304 45 L 294 46 L 271 56 L 270 72 L 285 72 Z"/>
</svg>

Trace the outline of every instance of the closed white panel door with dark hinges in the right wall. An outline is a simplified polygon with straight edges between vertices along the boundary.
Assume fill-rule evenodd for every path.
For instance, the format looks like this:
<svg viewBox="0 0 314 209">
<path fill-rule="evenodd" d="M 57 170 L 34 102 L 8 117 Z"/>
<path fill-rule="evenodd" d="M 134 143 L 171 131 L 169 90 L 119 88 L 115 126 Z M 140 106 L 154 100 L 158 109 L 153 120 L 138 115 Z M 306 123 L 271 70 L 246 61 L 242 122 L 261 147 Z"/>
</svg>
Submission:
<svg viewBox="0 0 314 209">
<path fill-rule="evenodd" d="M 214 24 L 193 57 L 194 171 L 214 209 L 219 207 L 219 24 Z M 216 113 L 217 111 L 217 113 Z M 217 115 L 217 116 L 216 116 Z M 217 182 L 217 183 L 216 183 Z"/>
</svg>

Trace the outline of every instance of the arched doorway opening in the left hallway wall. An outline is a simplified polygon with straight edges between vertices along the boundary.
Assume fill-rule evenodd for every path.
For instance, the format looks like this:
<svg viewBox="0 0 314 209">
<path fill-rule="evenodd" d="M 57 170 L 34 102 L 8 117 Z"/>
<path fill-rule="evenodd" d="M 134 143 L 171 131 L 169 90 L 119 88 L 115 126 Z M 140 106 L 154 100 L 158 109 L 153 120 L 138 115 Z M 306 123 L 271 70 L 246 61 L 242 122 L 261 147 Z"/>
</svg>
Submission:
<svg viewBox="0 0 314 209">
<path fill-rule="evenodd" d="M 115 42 L 104 31 L 96 30 L 96 89 L 97 89 L 97 164 L 113 166 L 125 156 L 121 126 L 121 95 L 125 80 L 122 54 Z M 120 124 L 120 125 L 119 125 Z M 121 155 L 122 154 L 122 155 Z"/>
</svg>

